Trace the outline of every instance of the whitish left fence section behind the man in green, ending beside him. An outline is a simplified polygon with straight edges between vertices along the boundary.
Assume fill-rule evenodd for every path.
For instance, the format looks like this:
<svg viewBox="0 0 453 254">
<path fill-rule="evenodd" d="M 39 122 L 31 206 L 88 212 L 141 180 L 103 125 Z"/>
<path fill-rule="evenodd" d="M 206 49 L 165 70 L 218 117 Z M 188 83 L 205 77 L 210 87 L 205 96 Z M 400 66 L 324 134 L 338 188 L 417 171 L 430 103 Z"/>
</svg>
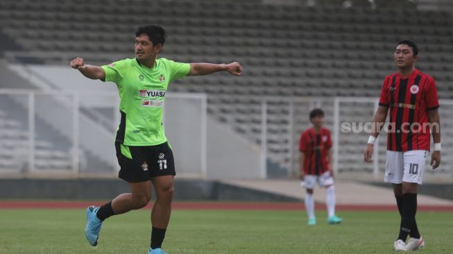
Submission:
<svg viewBox="0 0 453 254">
<path fill-rule="evenodd" d="M 164 124 L 181 176 L 206 176 L 206 96 L 166 94 Z M 178 105 L 175 107 L 174 105 Z M 116 93 L 0 90 L 0 174 L 116 176 Z M 180 130 L 185 134 L 180 135 Z M 174 139 L 173 139 L 174 137 Z M 197 148 L 194 149 L 194 146 Z"/>
</svg>

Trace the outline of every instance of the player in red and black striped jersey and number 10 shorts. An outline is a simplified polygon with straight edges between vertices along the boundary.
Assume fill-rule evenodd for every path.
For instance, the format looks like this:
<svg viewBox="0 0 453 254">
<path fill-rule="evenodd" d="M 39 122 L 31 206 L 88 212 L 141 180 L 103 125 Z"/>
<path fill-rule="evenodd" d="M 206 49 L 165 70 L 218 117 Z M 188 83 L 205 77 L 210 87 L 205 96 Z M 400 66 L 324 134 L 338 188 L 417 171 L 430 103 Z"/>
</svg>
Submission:
<svg viewBox="0 0 453 254">
<path fill-rule="evenodd" d="M 395 251 L 416 251 L 425 246 L 416 223 L 418 185 L 422 184 L 423 167 L 434 139 L 431 166 L 441 163 L 441 128 L 438 114 L 436 83 L 431 76 L 415 69 L 418 46 L 410 41 L 399 42 L 394 53 L 399 71 L 386 76 L 379 98 L 373 133 L 364 153 L 371 162 L 373 144 L 379 135 L 387 112 L 390 112 L 387 136 L 387 161 L 384 182 L 392 183 L 401 215 L 400 234 L 394 242 Z M 406 244 L 407 236 L 410 236 Z"/>
</svg>

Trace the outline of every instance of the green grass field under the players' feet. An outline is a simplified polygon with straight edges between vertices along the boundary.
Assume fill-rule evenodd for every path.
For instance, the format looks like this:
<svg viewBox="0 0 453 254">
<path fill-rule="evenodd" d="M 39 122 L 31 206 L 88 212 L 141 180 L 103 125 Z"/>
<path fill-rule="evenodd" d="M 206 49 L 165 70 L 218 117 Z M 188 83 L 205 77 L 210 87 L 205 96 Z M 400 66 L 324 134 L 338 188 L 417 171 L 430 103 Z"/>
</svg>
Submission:
<svg viewBox="0 0 453 254">
<path fill-rule="evenodd" d="M 151 226 L 149 210 L 106 221 L 99 245 L 85 239 L 83 210 L 0 210 L 1 254 L 137 253 L 146 254 Z M 164 250 L 176 253 L 395 253 L 396 212 L 339 212 L 344 222 L 306 225 L 296 211 L 173 211 Z M 418 212 L 427 246 L 420 253 L 453 253 L 453 216 Z"/>
</svg>

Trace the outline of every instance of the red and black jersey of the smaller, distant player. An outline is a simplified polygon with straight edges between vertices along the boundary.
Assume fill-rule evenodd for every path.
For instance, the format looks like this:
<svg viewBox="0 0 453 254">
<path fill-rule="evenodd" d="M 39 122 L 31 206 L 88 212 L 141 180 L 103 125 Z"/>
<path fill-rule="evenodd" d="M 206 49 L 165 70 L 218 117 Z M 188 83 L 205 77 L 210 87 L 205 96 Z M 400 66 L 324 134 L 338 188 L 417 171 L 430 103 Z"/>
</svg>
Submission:
<svg viewBox="0 0 453 254">
<path fill-rule="evenodd" d="M 327 156 L 331 147 L 332 139 L 327 128 L 321 128 L 317 134 L 309 128 L 300 135 L 299 151 L 305 154 L 304 172 L 307 175 L 320 176 L 329 170 Z"/>
</svg>

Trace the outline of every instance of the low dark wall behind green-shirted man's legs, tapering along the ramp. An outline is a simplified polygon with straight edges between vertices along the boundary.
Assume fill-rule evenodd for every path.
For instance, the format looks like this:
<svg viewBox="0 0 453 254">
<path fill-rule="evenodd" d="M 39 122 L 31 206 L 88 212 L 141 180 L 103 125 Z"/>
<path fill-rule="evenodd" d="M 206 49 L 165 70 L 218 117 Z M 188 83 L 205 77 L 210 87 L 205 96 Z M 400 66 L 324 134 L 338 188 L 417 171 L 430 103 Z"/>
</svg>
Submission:
<svg viewBox="0 0 453 254">
<path fill-rule="evenodd" d="M 212 180 L 176 179 L 175 189 L 176 201 L 299 201 Z M 111 200 L 127 192 L 120 179 L 0 179 L 0 199 Z"/>
</svg>

